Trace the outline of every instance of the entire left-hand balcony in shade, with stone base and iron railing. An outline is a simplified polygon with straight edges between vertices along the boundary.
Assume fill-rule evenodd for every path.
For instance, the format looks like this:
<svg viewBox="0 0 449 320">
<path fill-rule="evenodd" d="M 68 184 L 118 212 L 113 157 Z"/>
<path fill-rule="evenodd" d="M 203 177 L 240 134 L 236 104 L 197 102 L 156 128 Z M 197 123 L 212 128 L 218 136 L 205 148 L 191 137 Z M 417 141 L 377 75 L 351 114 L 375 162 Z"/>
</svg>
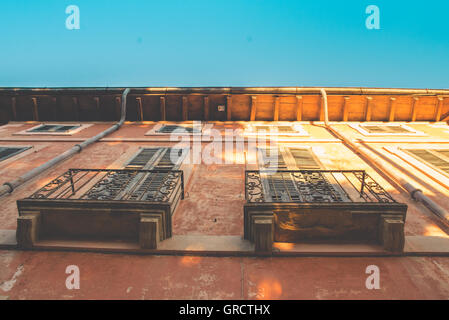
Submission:
<svg viewBox="0 0 449 320">
<path fill-rule="evenodd" d="M 156 249 L 172 236 L 181 170 L 70 169 L 17 201 L 17 241 L 122 241 Z"/>
</svg>

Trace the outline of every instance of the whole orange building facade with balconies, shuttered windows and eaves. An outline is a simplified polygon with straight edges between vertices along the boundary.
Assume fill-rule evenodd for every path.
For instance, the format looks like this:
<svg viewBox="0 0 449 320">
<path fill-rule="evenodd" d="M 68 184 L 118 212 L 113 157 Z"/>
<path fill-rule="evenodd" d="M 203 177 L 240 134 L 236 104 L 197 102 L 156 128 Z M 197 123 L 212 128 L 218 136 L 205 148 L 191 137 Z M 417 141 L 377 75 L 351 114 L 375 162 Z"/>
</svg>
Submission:
<svg viewBox="0 0 449 320">
<path fill-rule="evenodd" d="M 68 250 L 62 260 L 79 251 L 114 252 L 110 261 L 118 263 L 137 252 L 179 259 L 169 268 L 174 273 L 213 264 L 218 283 L 226 278 L 218 265 L 246 268 L 239 294 L 237 284 L 224 284 L 221 291 L 199 290 L 205 298 L 447 299 L 448 93 L 2 89 L 0 184 L 7 192 L 0 200 L 0 276 L 12 277 L 10 256 L 18 265 L 48 250 Z M 116 125 L 124 110 L 123 124 L 83 145 Z M 348 266 L 361 273 L 343 274 L 339 294 L 329 269 L 311 272 L 319 285 L 309 282 L 301 292 L 286 280 L 296 276 L 279 271 L 322 262 L 336 273 Z M 366 277 L 365 264 L 384 266 L 386 289 L 356 284 Z M 136 268 L 137 279 L 143 269 Z M 414 278 L 423 270 L 434 290 L 428 279 Z M 328 282 L 318 280 L 323 272 Z M 33 296 L 21 286 L 2 287 L 0 295 Z M 98 297 L 92 292 L 84 297 Z M 201 298 L 180 291 L 162 297 Z"/>
</svg>

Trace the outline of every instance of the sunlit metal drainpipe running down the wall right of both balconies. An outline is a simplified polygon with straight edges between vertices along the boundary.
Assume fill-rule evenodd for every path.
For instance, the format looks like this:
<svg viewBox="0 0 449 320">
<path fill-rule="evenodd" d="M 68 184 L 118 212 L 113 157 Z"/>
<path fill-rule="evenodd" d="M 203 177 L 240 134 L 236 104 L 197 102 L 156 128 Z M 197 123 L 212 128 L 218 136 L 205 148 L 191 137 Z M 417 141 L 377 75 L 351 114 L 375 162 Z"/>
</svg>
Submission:
<svg viewBox="0 0 449 320">
<path fill-rule="evenodd" d="M 327 94 L 325 89 L 321 89 L 321 95 L 324 100 L 324 125 L 326 129 L 332 132 L 338 139 L 342 140 L 353 152 L 362 155 L 365 159 L 368 159 L 369 162 L 371 162 L 370 165 L 376 167 L 380 172 L 383 172 L 389 179 L 392 179 L 396 183 L 398 183 L 402 188 L 404 188 L 405 190 L 407 190 L 408 193 L 410 193 L 412 199 L 422 202 L 430 211 L 435 213 L 446 226 L 449 226 L 449 213 L 444 208 L 439 206 L 432 199 L 428 198 L 422 192 L 421 189 L 416 188 L 405 179 L 390 173 L 388 168 L 386 168 L 386 166 L 382 163 L 381 160 L 377 159 L 374 153 L 372 153 L 369 150 L 363 150 L 362 148 L 354 144 L 352 141 L 347 139 L 344 135 L 340 134 L 337 130 L 332 128 L 332 126 L 329 124 L 328 109 L 327 109 L 328 106 Z"/>
</svg>

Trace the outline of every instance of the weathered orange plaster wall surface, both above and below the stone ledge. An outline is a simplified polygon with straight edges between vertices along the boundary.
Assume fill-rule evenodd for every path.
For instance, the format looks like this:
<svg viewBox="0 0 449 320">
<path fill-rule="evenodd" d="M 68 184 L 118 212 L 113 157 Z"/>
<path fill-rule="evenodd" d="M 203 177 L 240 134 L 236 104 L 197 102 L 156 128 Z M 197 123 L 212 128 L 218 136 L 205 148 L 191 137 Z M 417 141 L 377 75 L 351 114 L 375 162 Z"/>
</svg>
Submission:
<svg viewBox="0 0 449 320">
<path fill-rule="evenodd" d="M 433 214 L 411 200 L 322 124 L 302 123 L 308 136 L 271 138 L 273 145 L 311 147 L 326 169 L 363 169 L 399 202 L 409 206 L 406 235 L 448 237 Z M 32 146 L 0 162 L 0 183 L 50 160 L 75 143 L 110 126 L 94 124 L 73 136 L 23 136 L 15 133 L 36 123 L 0 127 L 0 146 Z M 27 182 L 0 200 L 0 229 L 16 228 L 16 200 L 29 196 L 69 168 L 116 168 L 139 147 L 170 146 L 169 136 L 146 136 L 154 123 L 127 123 L 102 142 Z M 216 123 L 215 128 L 244 128 L 247 123 Z M 349 124 L 335 127 L 357 143 L 365 141 L 390 159 L 393 174 L 404 175 L 425 194 L 449 210 L 449 189 L 441 172 L 423 172 L 392 153 L 392 147 L 449 147 L 449 127 L 408 124 L 425 136 L 366 137 Z M 206 148 L 203 142 L 202 148 Z M 389 149 L 390 148 L 390 149 Z M 390 150 L 390 151 L 389 151 Z M 248 151 L 245 149 L 245 151 Z M 195 164 L 178 206 L 174 234 L 242 235 L 245 159 L 250 153 L 226 152 L 228 164 Z M 388 162 L 388 161 L 387 161 Z M 424 170 L 425 171 L 425 170 Z M 81 290 L 65 287 L 65 268 L 82 270 Z M 381 270 L 381 290 L 367 290 L 365 268 Z M 148 270 L 152 270 L 151 274 Z M 448 258 L 212 258 L 123 256 L 93 253 L 0 251 L 0 297 L 9 299 L 448 299 Z"/>
</svg>

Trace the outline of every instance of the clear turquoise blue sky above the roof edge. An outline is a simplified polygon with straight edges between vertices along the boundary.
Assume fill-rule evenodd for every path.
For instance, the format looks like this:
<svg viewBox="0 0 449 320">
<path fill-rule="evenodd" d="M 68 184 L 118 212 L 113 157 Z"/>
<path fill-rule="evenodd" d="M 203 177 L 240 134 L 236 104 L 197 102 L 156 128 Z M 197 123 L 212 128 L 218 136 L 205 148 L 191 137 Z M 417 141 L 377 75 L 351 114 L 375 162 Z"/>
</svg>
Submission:
<svg viewBox="0 0 449 320">
<path fill-rule="evenodd" d="M 447 0 L 1 0 L 0 36 L 7 87 L 449 88 Z"/>
</svg>

